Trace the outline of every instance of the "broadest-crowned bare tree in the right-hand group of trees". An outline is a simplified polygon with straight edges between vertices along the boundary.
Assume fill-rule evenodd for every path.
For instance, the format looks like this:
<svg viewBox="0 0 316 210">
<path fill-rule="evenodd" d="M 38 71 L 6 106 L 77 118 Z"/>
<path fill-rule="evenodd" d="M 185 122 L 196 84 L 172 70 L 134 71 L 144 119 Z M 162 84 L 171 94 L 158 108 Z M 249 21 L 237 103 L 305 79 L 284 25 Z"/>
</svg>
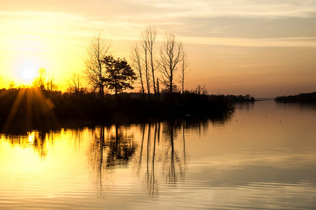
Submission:
<svg viewBox="0 0 316 210">
<path fill-rule="evenodd" d="M 178 64 L 182 61 L 182 43 L 177 41 L 172 33 L 166 34 L 164 43 L 160 50 L 159 70 L 163 75 L 166 90 L 173 94 L 175 89 L 175 73 L 178 71 Z"/>
</svg>

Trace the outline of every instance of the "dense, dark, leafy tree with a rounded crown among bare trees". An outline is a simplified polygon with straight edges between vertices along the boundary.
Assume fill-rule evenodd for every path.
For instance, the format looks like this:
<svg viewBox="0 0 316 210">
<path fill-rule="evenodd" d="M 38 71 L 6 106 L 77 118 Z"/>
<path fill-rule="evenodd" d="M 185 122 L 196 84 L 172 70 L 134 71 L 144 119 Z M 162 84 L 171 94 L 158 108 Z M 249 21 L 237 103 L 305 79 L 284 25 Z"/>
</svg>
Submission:
<svg viewBox="0 0 316 210">
<path fill-rule="evenodd" d="M 136 74 L 126 59 L 114 59 L 112 55 L 108 55 L 102 62 L 106 66 L 106 76 L 103 78 L 103 82 L 108 90 L 115 91 L 115 97 L 123 90 L 134 89 L 132 85 L 136 80 Z"/>
</svg>

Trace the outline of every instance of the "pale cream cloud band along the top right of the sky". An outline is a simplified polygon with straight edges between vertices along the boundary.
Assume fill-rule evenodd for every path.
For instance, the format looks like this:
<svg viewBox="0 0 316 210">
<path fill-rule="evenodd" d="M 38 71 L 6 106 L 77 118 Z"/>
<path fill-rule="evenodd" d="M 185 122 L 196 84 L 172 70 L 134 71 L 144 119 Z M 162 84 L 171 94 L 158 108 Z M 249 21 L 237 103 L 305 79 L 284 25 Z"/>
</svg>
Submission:
<svg viewBox="0 0 316 210">
<path fill-rule="evenodd" d="M 126 1 L 120 2 L 122 7 L 131 6 L 138 15 L 129 17 L 123 14 L 119 17 L 138 18 L 215 18 L 215 17 L 246 17 L 246 18 L 308 18 L 315 17 L 315 1 L 254 1 L 254 0 L 197 0 L 197 1 Z M 124 9 L 122 9 L 124 10 Z M 120 14 L 120 10 L 118 10 Z M 133 13 L 133 10 L 131 10 Z"/>
</svg>

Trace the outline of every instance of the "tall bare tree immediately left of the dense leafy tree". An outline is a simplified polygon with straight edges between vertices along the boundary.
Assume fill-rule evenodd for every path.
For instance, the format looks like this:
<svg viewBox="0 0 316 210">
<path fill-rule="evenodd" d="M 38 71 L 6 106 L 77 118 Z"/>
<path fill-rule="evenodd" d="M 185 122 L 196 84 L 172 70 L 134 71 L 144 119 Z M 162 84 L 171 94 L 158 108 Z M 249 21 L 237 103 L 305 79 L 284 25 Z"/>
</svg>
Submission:
<svg viewBox="0 0 316 210">
<path fill-rule="evenodd" d="M 101 97 L 104 96 L 104 81 L 106 67 L 102 62 L 104 57 L 110 53 L 110 39 L 106 38 L 103 31 L 96 34 L 87 48 L 87 59 L 85 59 L 85 76 L 93 90 L 98 92 Z"/>
</svg>

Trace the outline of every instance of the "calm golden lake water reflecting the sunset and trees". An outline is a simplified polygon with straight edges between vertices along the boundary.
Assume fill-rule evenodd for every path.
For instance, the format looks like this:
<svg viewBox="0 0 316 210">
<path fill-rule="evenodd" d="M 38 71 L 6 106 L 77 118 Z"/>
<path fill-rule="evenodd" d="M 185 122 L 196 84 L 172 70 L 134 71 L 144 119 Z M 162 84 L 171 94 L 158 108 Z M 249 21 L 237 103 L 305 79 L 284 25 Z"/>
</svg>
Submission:
<svg viewBox="0 0 316 210">
<path fill-rule="evenodd" d="M 1 134 L 0 209 L 316 209 L 316 108 Z"/>
</svg>

